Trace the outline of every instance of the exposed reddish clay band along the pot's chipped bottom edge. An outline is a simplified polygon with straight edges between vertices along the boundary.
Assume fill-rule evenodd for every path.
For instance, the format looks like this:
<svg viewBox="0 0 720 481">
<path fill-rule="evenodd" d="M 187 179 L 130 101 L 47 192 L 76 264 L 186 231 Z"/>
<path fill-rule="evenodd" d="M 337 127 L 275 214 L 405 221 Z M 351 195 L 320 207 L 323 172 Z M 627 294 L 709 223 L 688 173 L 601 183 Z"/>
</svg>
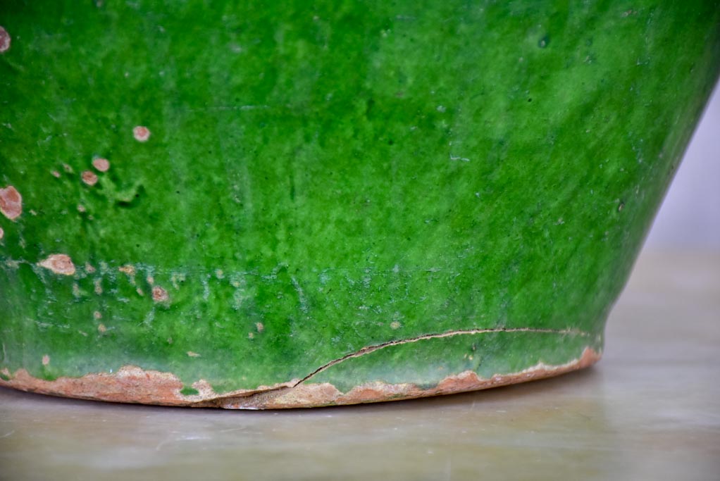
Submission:
<svg viewBox="0 0 720 481">
<path fill-rule="evenodd" d="M 99 325 L 98 331 L 104 333 L 104 325 Z M 442 379 L 435 387 L 422 388 L 412 383 L 387 384 L 376 381 L 356 386 L 344 393 L 327 382 L 307 382 L 306 378 L 305 381 L 293 379 L 272 386 L 258 386 L 254 390 L 237 390 L 217 395 L 206 381 L 200 379 L 192 385 L 199 394 L 182 395 L 180 390 L 183 388 L 183 383 L 174 374 L 145 371 L 135 366 L 122 367 L 112 374 L 86 374 L 77 378 L 60 377 L 53 381 L 37 379 L 30 376 L 26 370 L 19 369 L 13 376 L 7 372 L 6 377 L 10 379 L 0 379 L 0 385 L 30 392 L 118 403 L 227 409 L 312 408 L 483 390 L 557 376 L 590 367 L 599 359 L 600 354 L 587 347 L 582 351 L 579 359 L 566 364 L 549 366 L 540 363 L 521 372 L 495 374 L 490 379 L 483 379 L 475 372 L 465 371 Z"/>
</svg>

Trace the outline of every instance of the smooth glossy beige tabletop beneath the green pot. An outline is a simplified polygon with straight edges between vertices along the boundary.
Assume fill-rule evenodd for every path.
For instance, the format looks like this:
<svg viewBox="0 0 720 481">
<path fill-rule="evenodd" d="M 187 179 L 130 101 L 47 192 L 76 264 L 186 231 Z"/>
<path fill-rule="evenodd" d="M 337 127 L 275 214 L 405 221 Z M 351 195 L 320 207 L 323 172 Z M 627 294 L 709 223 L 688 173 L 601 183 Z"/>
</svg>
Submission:
<svg viewBox="0 0 720 481">
<path fill-rule="evenodd" d="M 720 480 L 720 253 L 644 253 L 585 372 L 276 412 L 0 388 L 0 480 Z"/>
</svg>

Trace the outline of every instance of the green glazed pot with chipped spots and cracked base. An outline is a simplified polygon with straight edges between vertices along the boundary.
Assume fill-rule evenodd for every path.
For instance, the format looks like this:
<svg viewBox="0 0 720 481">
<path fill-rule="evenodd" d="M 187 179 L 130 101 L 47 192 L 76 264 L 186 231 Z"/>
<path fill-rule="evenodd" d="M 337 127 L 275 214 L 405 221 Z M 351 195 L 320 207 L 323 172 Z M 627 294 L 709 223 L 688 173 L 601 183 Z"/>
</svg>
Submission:
<svg viewBox="0 0 720 481">
<path fill-rule="evenodd" d="M 587 367 L 718 1 L 4 1 L 0 385 L 292 408 Z"/>
</svg>

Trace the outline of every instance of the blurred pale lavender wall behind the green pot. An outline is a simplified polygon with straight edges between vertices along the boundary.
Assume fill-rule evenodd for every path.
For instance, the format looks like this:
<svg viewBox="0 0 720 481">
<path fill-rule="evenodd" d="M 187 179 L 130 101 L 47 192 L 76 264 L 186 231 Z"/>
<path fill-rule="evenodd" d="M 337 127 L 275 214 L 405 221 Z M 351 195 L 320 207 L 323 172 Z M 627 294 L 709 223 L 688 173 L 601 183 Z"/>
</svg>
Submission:
<svg viewBox="0 0 720 481">
<path fill-rule="evenodd" d="M 670 184 L 646 250 L 720 250 L 720 84 Z"/>
</svg>

